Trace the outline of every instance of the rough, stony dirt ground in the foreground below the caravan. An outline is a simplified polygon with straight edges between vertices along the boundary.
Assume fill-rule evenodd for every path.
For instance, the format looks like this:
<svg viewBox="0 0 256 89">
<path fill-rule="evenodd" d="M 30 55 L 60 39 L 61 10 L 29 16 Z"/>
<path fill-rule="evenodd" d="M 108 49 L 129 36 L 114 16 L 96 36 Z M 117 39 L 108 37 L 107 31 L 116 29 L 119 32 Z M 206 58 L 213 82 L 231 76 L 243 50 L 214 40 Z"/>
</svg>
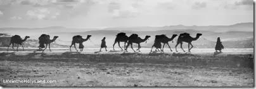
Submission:
<svg viewBox="0 0 256 89">
<path fill-rule="evenodd" d="M 251 55 L 0 53 L 0 86 L 254 86 Z M 4 83 L 3 80 L 56 80 Z"/>
</svg>

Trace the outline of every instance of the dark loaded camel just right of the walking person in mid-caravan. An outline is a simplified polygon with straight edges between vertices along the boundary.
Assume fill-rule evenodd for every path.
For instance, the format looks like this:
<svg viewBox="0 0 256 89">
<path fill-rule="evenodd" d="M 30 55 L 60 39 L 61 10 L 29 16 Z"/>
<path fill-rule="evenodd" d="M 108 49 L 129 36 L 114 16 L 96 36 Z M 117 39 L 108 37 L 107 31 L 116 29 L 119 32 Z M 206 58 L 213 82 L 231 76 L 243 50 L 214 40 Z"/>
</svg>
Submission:
<svg viewBox="0 0 256 89">
<path fill-rule="evenodd" d="M 121 48 L 121 51 L 123 51 L 122 47 L 120 46 L 120 42 L 124 42 L 124 50 L 125 50 L 125 44 L 128 43 L 128 36 L 126 36 L 126 33 L 118 33 L 117 38 L 115 38 L 115 43 L 118 43 L 118 46 Z M 113 44 L 113 50 L 115 51 L 115 43 Z"/>
</svg>

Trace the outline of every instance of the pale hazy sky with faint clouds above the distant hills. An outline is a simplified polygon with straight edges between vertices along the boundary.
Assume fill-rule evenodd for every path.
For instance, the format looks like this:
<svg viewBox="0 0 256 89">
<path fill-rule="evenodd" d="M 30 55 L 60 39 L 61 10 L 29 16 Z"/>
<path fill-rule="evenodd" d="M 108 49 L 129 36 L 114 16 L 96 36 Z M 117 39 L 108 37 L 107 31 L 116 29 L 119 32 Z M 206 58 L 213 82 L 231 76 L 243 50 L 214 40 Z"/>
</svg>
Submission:
<svg viewBox="0 0 256 89">
<path fill-rule="evenodd" d="M 0 28 L 229 25 L 253 22 L 253 0 L 0 0 Z"/>
</svg>

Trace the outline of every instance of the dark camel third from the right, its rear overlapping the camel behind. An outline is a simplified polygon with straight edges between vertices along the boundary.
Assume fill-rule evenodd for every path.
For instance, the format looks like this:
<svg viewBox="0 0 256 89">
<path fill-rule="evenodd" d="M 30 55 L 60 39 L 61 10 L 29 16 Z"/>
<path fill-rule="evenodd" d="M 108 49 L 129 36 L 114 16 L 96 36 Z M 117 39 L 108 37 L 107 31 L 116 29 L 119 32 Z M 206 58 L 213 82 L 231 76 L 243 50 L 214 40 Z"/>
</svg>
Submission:
<svg viewBox="0 0 256 89">
<path fill-rule="evenodd" d="M 151 36 L 145 36 L 144 39 L 141 39 L 140 37 L 138 37 L 138 34 L 131 34 L 131 36 L 129 36 L 129 40 L 128 40 L 128 44 L 125 48 L 125 50 L 127 51 L 127 48 L 129 47 L 129 45 L 131 44 L 131 48 L 132 48 L 132 43 L 137 43 L 138 44 L 138 49 L 141 48 L 141 44 L 144 41 L 146 41 L 148 38 L 150 38 Z M 132 50 L 135 52 L 135 50 L 132 48 Z M 139 50 L 140 52 L 140 50 Z"/>
</svg>

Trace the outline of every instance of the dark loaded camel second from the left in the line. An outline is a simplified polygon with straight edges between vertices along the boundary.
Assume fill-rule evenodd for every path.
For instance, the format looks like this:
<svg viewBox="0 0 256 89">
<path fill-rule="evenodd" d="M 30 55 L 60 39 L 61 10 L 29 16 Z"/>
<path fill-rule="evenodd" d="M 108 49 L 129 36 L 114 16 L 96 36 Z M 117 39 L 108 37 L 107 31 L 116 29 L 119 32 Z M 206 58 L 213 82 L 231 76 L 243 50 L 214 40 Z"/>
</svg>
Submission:
<svg viewBox="0 0 256 89">
<path fill-rule="evenodd" d="M 53 39 L 50 39 L 49 35 L 46 34 L 42 34 L 39 37 L 39 49 L 44 48 L 44 44 L 46 44 L 46 48 L 49 44 L 49 50 L 51 51 L 51 43 L 53 43 L 59 36 L 54 36 Z M 44 50 L 46 50 L 46 48 L 44 48 Z M 42 50 L 42 52 L 44 51 Z"/>
</svg>

